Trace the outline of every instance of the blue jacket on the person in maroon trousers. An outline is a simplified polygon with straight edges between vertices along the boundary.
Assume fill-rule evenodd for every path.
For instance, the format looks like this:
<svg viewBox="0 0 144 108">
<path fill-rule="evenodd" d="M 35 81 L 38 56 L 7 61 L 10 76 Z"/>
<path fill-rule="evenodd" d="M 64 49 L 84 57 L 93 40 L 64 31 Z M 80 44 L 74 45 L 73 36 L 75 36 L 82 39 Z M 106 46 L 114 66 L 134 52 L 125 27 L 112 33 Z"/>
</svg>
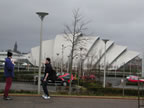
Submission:
<svg viewBox="0 0 144 108">
<path fill-rule="evenodd" d="M 14 77 L 14 64 L 12 63 L 10 58 L 5 59 L 4 75 L 6 78 Z"/>
</svg>

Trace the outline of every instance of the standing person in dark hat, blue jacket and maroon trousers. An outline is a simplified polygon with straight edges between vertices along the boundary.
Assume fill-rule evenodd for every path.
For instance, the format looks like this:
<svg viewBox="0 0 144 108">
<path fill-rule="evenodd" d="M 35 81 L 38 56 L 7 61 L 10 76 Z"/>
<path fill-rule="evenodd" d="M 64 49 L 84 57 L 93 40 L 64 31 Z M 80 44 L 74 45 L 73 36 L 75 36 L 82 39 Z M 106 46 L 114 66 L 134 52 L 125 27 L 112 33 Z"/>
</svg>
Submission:
<svg viewBox="0 0 144 108">
<path fill-rule="evenodd" d="M 14 77 L 14 62 L 12 62 L 12 53 L 8 51 L 7 58 L 5 59 L 5 66 L 4 66 L 4 76 L 6 78 L 6 85 L 4 90 L 4 100 L 11 100 L 8 96 L 9 90 L 12 84 L 12 78 Z"/>
</svg>

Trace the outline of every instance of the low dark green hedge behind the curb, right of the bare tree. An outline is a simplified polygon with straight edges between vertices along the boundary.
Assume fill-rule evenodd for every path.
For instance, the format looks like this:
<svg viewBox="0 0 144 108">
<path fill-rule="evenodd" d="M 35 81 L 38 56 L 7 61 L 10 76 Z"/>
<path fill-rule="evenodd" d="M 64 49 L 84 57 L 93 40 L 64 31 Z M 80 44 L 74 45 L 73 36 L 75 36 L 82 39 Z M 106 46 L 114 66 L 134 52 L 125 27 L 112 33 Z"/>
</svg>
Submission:
<svg viewBox="0 0 144 108">
<path fill-rule="evenodd" d="M 80 85 L 85 87 L 87 90 L 85 92 L 80 91 L 80 93 L 84 93 L 87 95 L 97 95 L 97 96 L 122 96 L 123 89 L 122 88 L 112 88 L 111 86 L 107 86 L 106 88 L 102 87 L 102 83 L 97 81 L 80 81 Z M 125 96 L 137 96 L 137 89 L 125 89 Z"/>
</svg>

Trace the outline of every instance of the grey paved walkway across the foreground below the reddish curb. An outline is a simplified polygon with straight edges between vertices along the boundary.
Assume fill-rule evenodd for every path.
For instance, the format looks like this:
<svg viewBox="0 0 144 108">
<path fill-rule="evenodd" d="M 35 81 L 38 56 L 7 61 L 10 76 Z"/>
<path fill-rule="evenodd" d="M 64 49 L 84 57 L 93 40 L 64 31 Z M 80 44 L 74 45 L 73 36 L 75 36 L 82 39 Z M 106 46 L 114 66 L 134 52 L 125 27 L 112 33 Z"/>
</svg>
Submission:
<svg viewBox="0 0 144 108">
<path fill-rule="evenodd" d="M 0 97 L 0 108 L 137 108 L 137 100 L 13 96 L 5 101 Z"/>
</svg>

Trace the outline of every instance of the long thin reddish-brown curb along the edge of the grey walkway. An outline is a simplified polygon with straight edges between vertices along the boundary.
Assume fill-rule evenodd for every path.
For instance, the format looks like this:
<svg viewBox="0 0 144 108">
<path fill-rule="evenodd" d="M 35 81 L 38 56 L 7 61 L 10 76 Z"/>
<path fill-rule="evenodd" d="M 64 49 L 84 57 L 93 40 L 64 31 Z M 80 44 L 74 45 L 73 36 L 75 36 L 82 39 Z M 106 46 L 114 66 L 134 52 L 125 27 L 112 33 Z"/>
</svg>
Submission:
<svg viewBox="0 0 144 108">
<path fill-rule="evenodd" d="M 0 94 L 3 96 L 3 94 Z M 10 96 L 18 97 L 40 97 L 38 94 L 10 94 Z M 110 97 L 110 96 L 64 96 L 64 95 L 51 95 L 56 98 L 87 98 L 87 99 L 123 99 L 123 100 L 137 100 L 137 97 Z"/>
</svg>

